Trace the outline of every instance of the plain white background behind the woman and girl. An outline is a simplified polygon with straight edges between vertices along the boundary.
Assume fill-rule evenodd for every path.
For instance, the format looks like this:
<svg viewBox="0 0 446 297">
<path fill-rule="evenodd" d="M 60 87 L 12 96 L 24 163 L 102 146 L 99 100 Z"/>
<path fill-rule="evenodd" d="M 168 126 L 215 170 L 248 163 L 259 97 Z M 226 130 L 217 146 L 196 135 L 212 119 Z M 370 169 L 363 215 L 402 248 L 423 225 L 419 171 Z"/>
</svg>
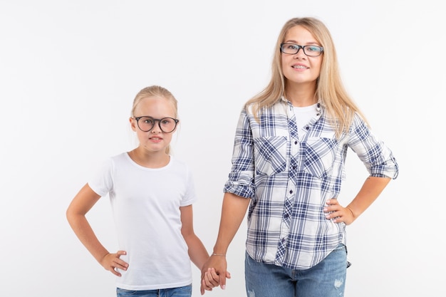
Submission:
<svg viewBox="0 0 446 297">
<path fill-rule="evenodd" d="M 268 82 L 284 22 L 316 16 L 400 164 L 348 226 L 346 296 L 445 296 L 445 12 L 432 0 L 1 0 L 0 295 L 115 296 L 65 211 L 92 170 L 135 146 L 128 117 L 147 85 L 179 101 L 172 145 L 194 172 L 195 231 L 212 251 L 239 110 Z M 350 152 L 341 203 L 366 176 Z M 115 251 L 108 199 L 88 218 Z M 226 291 L 205 296 L 245 296 L 245 231 L 229 247 Z"/>
</svg>

